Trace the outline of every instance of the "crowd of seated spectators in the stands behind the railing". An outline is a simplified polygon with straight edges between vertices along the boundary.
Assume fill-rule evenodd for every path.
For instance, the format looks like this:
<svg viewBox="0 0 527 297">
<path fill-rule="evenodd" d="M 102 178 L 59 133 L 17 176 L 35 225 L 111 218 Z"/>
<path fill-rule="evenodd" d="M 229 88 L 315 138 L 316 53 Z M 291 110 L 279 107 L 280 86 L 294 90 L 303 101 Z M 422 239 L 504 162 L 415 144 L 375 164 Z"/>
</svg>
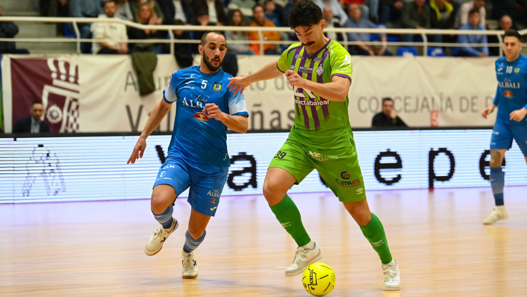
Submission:
<svg viewBox="0 0 527 297">
<path fill-rule="evenodd" d="M 72 16 L 121 18 L 140 24 L 150 25 L 205 25 L 205 26 L 254 26 L 287 27 L 289 10 L 299 0 L 40 0 L 42 16 Z M 328 27 L 345 28 L 426 28 L 462 30 L 508 30 L 525 27 L 527 24 L 527 0 L 314 0 L 321 7 Z M 491 13 L 487 14 L 487 9 Z M 0 9 L 1 14 L 1 9 Z M 490 27 L 487 19 L 499 20 L 497 27 Z M 13 37 L 17 30 L 4 30 L 8 27 L 0 22 L 0 36 Z M 57 34 L 73 32 L 73 29 L 57 25 Z M 71 24 L 70 24 L 71 26 Z M 11 28 L 12 29 L 12 28 Z M 118 23 L 79 24 L 82 38 L 99 39 L 93 44 L 83 44 L 83 53 L 124 54 L 133 52 L 169 52 L 168 44 L 135 43 L 133 40 L 167 39 L 166 31 L 139 30 Z M 200 39 L 203 32 L 174 31 L 175 39 Z M 343 36 L 326 33 L 337 41 Z M 269 41 L 297 41 L 295 34 L 284 32 L 264 32 Z M 386 35 L 369 33 L 347 33 L 348 41 L 357 42 L 348 50 L 354 55 L 392 55 L 386 41 L 422 42 L 420 35 Z M 255 32 L 226 32 L 227 40 L 258 41 Z M 447 55 L 486 56 L 497 55 L 497 47 L 489 48 L 488 43 L 497 43 L 496 36 L 486 35 L 427 35 L 430 42 L 459 43 L 460 46 L 444 49 Z M 105 40 L 106 42 L 102 42 Z M 128 40 L 128 42 L 111 42 Z M 110 42 L 108 42 L 110 41 Z M 364 44 L 380 41 L 380 46 Z M 130 43 L 130 44 L 129 44 Z M 479 46 L 465 44 L 477 43 Z M 13 47 L 14 43 L 11 43 Z M 188 64 L 197 47 L 191 44 L 176 44 L 181 53 L 178 62 Z M 14 49 L 11 49 L 12 51 Z M 278 54 L 282 46 L 266 44 L 260 52 L 259 43 L 230 44 L 232 54 Z M 5 43 L 0 44 L 0 52 L 7 53 Z M 20 53 L 20 52 L 19 52 Z M 399 52 L 400 54 L 400 52 Z M 190 58 L 189 58 L 190 57 Z"/>
</svg>

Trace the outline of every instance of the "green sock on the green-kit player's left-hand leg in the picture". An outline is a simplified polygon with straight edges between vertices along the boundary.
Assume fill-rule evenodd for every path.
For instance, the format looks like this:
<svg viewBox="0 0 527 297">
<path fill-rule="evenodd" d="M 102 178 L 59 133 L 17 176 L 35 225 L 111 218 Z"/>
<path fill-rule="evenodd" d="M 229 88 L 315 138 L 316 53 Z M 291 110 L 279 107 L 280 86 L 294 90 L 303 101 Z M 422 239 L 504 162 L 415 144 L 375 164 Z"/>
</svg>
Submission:
<svg viewBox="0 0 527 297">
<path fill-rule="evenodd" d="M 280 222 L 280 224 L 286 229 L 287 233 L 295 239 L 298 246 L 304 246 L 311 241 L 304 225 L 302 225 L 300 212 L 289 196 L 286 195 L 279 204 L 269 207 L 271 207 L 278 222 Z"/>
</svg>

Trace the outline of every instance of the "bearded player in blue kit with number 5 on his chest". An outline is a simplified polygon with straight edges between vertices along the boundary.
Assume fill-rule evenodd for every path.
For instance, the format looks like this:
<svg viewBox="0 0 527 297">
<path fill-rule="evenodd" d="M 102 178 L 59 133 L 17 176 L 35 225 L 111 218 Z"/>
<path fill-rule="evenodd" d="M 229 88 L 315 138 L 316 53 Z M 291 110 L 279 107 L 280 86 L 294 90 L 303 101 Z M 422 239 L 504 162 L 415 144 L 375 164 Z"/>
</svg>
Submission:
<svg viewBox="0 0 527 297">
<path fill-rule="evenodd" d="M 178 228 L 172 217 L 175 198 L 190 187 L 187 201 L 192 206 L 186 241 L 181 253 L 183 279 L 198 276 L 194 250 L 207 234 L 205 228 L 216 214 L 221 191 L 227 180 L 230 158 L 227 154 L 227 128 L 245 133 L 248 112 L 242 94 L 230 92 L 228 78 L 220 70 L 227 51 L 221 32 L 203 34 L 198 45 L 200 66 L 178 70 L 163 91 L 163 99 L 148 118 L 128 163 L 143 156 L 146 139 L 177 104 L 174 129 L 167 159 L 155 179 L 151 209 L 161 226 L 144 247 L 149 255 L 157 254 L 165 239 Z"/>
</svg>

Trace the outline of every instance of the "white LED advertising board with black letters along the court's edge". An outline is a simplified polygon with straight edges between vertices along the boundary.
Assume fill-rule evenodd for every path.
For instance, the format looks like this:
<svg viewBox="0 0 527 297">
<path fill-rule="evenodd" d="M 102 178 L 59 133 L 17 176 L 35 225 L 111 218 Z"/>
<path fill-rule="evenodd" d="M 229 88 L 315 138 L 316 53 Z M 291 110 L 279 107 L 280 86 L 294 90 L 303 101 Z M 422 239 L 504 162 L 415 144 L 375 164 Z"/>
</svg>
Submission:
<svg viewBox="0 0 527 297">
<path fill-rule="evenodd" d="M 365 188 L 366 193 L 457 187 L 490 191 L 491 132 L 357 131 L 364 185 L 352 183 L 358 177 L 350 176 L 344 165 L 331 180 L 314 170 L 289 193 L 330 191 L 327 184 Z M 231 167 L 222 195 L 261 195 L 267 167 L 287 135 L 229 134 Z M 0 138 L 0 203 L 150 198 L 170 136 L 149 137 L 143 158 L 127 165 L 136 141 L 136 136 Z M 505 185 L 526 185 L 527 166 L 516 143 L 505 160 Z"/>
</svg>

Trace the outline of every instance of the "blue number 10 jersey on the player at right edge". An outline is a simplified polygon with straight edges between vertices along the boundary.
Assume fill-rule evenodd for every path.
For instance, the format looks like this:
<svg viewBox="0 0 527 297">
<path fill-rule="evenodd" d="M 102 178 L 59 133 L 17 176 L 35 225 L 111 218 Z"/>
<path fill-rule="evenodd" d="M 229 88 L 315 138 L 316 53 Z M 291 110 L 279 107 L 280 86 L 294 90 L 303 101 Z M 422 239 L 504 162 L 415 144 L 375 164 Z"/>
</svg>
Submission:
<svg viewBox="0 0 527 297">
<path fill-rule="evenodd" d="M 496 121 L 511 125 L 527 125 L 527 117 L 516 122 L 509 114 L 527 108 L 527 57 L 508 62 L 505 57 L 496 60 L 497 90 L 494 105 L 498 107 Z"/>
</svg>

